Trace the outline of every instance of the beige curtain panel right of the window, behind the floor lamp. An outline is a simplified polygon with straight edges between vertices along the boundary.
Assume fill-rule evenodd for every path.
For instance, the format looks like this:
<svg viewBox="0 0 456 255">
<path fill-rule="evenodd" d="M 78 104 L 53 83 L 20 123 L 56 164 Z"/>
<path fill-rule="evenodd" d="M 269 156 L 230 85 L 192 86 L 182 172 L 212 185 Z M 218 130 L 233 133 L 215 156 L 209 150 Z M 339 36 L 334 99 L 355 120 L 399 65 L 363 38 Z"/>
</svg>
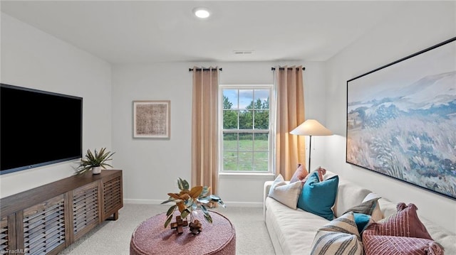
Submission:
<svg viewBox="0 0 456 255">
<path fill-rule="evenodd" d="M 305 136 L 289 131 L 304 122 L 302 66 L 276 67 L 276 175 L 290 180 L 298 163 L 306 166 Z M 308 169 L 309 171 L 309 169 Z"/>
</svg>

